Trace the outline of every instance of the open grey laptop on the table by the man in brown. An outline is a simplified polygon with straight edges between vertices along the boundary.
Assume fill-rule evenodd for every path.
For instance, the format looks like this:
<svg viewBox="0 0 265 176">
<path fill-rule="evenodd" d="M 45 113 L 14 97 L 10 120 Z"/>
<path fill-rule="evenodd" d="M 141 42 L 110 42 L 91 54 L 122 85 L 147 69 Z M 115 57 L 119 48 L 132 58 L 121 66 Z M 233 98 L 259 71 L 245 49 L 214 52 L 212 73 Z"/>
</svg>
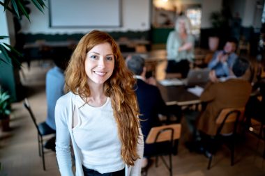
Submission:
<svg viewBox="0 0 265 176">
<path fill-rule="evenodd" d="M 183 84 L 188 87 L 205 85 L 209 81 L 209 68 L 192 69 L 188 72 L 186 79 L 182 79 Z"/>
</svg>

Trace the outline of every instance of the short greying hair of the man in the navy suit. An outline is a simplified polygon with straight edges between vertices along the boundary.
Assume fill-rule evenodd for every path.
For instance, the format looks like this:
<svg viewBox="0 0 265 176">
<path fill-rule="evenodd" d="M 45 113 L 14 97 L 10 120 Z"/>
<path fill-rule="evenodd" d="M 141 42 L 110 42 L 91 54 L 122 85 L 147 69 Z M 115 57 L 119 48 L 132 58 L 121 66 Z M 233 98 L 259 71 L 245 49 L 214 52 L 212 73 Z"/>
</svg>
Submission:
<svg viewBox="0 0 265 176">
<path fill-rule="evenodd" d="M 144 58 L 139 55 L 132 55 L 131 58 L 128 58 L 127 67 L 136 75 L 142 74 L 144 71 Z"/>
</svg>

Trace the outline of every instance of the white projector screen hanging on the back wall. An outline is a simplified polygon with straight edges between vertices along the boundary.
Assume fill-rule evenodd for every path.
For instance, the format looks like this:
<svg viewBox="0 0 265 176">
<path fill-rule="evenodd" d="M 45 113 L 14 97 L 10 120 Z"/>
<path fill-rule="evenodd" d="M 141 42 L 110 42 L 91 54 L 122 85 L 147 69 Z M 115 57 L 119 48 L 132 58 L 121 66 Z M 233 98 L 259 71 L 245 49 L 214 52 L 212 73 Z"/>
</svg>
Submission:
<svg viewBox="0 0 265 176">
<path fill-rule="evenodd" d="M 119 27 L 121 0 L 50 0 L 50 27 Z"/>
</svg>

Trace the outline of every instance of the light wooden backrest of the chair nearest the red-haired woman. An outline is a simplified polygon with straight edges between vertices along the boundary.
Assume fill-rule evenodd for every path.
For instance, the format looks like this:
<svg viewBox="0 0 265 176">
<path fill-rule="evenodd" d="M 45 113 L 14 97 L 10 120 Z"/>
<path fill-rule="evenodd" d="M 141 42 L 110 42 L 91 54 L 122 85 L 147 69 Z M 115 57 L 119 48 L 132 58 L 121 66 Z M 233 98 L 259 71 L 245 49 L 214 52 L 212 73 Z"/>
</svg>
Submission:
<svg viewBox="0 0 265 176">
<path fill-rule="evenodd" d="M 160 143 L 164 141 L 173 141 L 181 137 L 181 124 L 163 125 L 153 127 L 149 131 L 146 143 Z"/>
</svg>

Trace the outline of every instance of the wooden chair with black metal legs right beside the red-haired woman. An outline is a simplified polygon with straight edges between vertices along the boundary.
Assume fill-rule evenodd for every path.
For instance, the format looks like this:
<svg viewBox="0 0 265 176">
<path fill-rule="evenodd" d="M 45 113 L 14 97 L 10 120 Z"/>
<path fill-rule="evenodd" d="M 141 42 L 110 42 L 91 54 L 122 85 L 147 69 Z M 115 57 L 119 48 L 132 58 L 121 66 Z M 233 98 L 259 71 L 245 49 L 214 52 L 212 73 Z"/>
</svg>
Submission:
<svg viewBox="0 0 265 176">
<path fill-rule="evenodd" d="M 174 141 L 179 140 L 180 137 L 181 124 L 172 124 L 151 128 L 146 138 L 146 144 L 153 144 L 156 147 L 156 151 L 148 154 L 148 157 L 156 157 L 156 167 L 158 167 L 158 157 L 160 157 L 169 170 L 170 176 L 172 176 L 172 150 L 174 148 Z M 175 145 L 178 145 L 178 142 Z M 177 149 L 178 147 L 176 146 Z M 167 155 L 169 157 L 169 163 L 163 157 Z"/>
</svg>

